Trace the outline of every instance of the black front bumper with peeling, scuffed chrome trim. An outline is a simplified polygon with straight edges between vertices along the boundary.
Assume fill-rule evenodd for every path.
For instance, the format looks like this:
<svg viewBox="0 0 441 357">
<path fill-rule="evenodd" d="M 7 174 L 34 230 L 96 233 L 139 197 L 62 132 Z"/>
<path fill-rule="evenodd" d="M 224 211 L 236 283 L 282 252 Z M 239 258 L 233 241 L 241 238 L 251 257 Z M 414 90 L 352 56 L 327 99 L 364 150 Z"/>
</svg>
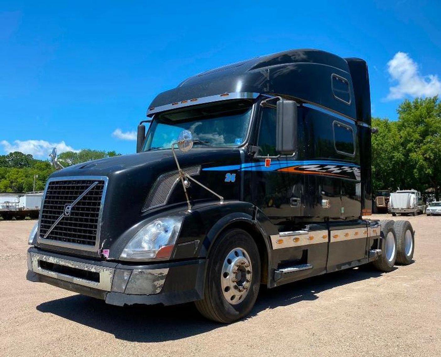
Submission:
<svg viewBox="0 0 441 357">
<path fill-rule="evenodd" d="M 202 299 L 205 259 L 128 265 L 42 251 L 27 253 L 29 281 L 45 282 L 112 305 L 181 304 Z"/>
</svg>

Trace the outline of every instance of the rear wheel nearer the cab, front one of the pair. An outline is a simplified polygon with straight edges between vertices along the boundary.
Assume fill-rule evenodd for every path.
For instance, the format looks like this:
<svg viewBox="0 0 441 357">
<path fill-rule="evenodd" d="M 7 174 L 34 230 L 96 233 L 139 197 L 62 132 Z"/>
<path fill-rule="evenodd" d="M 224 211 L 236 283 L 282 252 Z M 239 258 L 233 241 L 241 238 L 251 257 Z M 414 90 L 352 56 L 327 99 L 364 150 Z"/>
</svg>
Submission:
<svg viewBox="0 0 441 357">
<path fill-rule="evenodd" d="M 396 260 L 396 234 L 393 220 L 380 221 L 381 224 L 381 255 L 374 260 L 377 270 L 389 272 L 393 270 Z"/>
</svg>

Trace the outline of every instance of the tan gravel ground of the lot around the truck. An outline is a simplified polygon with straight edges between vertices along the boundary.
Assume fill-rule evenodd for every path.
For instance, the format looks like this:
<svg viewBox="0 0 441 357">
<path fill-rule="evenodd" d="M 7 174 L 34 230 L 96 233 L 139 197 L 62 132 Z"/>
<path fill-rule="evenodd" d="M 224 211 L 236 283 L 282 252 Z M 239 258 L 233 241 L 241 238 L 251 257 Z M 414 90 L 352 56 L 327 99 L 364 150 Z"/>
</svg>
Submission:
<svg viewBox="0 0 441 357">
<path fill-rule="evenodd" d="M 441 217 L 405 218 L 417 231 L 413 264 L 262 289 L 231 325 L 192 304 L 118 308 L 26 281 L 34 221 L 0 221 L 0 356 L 441 356 Z"/>
</svg>

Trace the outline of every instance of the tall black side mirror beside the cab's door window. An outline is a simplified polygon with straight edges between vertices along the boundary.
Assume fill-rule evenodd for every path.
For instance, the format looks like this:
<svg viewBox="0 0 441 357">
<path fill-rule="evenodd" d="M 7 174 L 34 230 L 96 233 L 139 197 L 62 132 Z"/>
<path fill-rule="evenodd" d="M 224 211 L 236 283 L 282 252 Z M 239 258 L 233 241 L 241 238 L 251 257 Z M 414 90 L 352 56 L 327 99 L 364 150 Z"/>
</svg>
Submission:
<svg viewBox="0 0 441 357">
<path fill-rule="evenodd" d="M 282 155 L 292 155 L 297 150 L 297 102 L 277 102 L 276 150 Z"/>
</svg>

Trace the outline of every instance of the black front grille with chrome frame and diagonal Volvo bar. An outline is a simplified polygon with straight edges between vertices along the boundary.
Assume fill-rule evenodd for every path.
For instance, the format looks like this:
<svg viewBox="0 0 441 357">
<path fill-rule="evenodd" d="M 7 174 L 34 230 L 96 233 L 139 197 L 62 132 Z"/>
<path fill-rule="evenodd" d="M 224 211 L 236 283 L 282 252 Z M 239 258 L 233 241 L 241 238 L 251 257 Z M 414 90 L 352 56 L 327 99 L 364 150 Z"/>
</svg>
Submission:
<svg viewBox="0 0 441 357">
<path fill-rule="evenodd" d="M 99 240 L 106 183 L 107 178 L 93 177 L 49 180 L 41 208 L 39 240 L 62 246 L 80 244 L 94 249 Z M 90 191 L 72 205 L 88 189 Z M 70 212 L 65 210 L 67 205 L 72 205 Z"/>
</svg>

